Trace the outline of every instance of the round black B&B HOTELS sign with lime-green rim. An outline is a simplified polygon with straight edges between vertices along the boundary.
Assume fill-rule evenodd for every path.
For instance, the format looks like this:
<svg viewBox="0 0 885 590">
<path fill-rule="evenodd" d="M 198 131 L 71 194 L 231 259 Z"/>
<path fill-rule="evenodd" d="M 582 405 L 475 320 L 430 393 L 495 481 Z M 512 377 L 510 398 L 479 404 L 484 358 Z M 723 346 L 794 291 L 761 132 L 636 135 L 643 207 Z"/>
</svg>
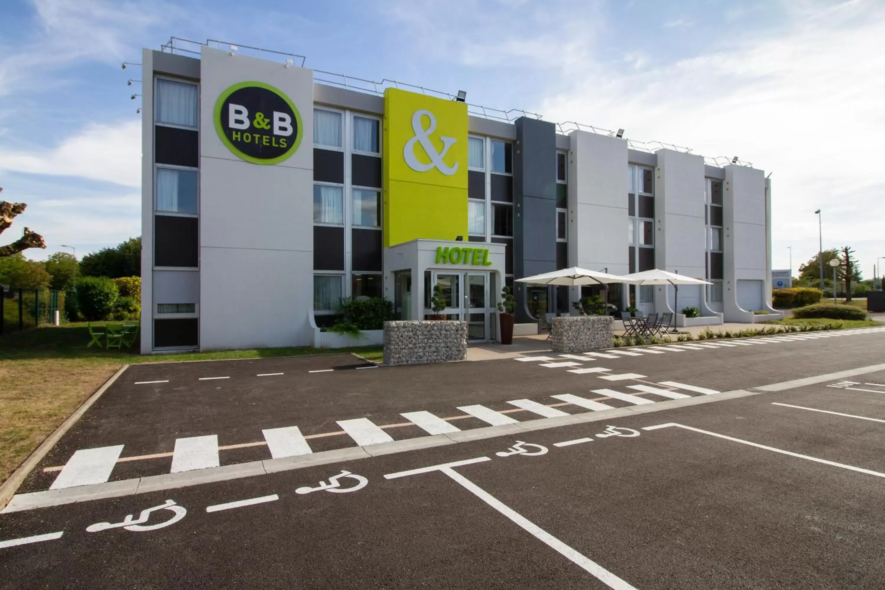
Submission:
<svg viewBox="0 0 885 590">
<path fill-rule="evenodd" d="M 215 129 L 227 149 L 253 164 L 279 164 L 298 149 L 303 135 L 295 104 L 264 82 L 240 82 L 215 103 Z"/>
</svg>

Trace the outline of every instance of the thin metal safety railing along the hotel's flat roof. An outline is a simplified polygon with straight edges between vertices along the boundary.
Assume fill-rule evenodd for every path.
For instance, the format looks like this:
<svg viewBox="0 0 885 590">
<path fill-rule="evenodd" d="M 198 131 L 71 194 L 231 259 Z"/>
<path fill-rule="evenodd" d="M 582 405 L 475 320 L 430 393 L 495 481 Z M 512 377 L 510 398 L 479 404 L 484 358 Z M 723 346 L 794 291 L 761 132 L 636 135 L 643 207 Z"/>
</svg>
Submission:
<svg viewBox="0 0 885 590">
<path fill-rule="evenodd" d="M 170 37 L 168 42 L 165 42 L 160 46 L 160 50 L 173 54 L 187 53 L 190 55 L 199 56 L 200 48 L 203 46 L 214 47 L 215 49 L 219 50 L 227 50 L 232 53 L 242 53 L 242 50 L 246 50 L 245 54 L 254 54 L 261 59 L 273 59 L 274 61 L 283 60 L 286 64 L 299 65 L 300 67 L 304 67 L 304 64 L 307 63 L 307 57 L 304 57 L 297 53 L 265 50 L 260 47 L 239 45 L 237 43 L 219 41 L 217 39 L 207 39 L 206 42 L 198 42 L 191 41 L 189 39 L 182 39 L 181 37 Z M 296 63 L 298 61 L 300 61 L 300 63 Z M 366 80 L 365 78 L 357 78 L 355 76 L 348 76 L 342 73 L 326 72 L 324 70 L 313 70 L 313 81 L 330 86 L 337 86 L 339 88 L 345 88 L 348 90 L 355 90 L 357 92 L 366 92 L 376 96 L 383 96 L 384 91 L 387 88 L 407 88 L 411 89 L 413 92 L 420 92 L 421 94 L 426 96 L 435 96 L 437 98 L 455 100 L 454 95 L 443 90 L 434 90 L 433 88 L 425 88 L 423 86 L 416 86 L 414 84 L 400 82 L 397 80 L 388 80 L 387 78 L 384 78 L 381 81 L 375 81 Z M 481 104 L 466 103 L 466 105 L 467 114 L 473 115 L 474 117 L 482 117 L 483 119 L 504 121 L 506 123 L 512 123 L 516 119 L 519 119 L 519 117 L 543 119 L 542 115 L 539 115 L 536 112 L 524 111 L 522 109 L 510 109 L 509 111 L 502 111 L 501 109 L 482 106 Z M 578 123 L 576 121 L 566 121 L 565 123 L 556 123 L 555 125 L 558 133 L 563 135 L 567 135 L 573 131 L 589 131 L 590 133 L 607 135 L 609 137 L 617 136 L 617 134 L 611 129 L 604 129 L 603 127 L 586 125 L 583 123 Z M 686 154 L 692 153 L 691 148 L 675 145 L 673 143 L 657 141 L 639 142 L 637 140 L 632 140 L 629 138 L 624 139 L 627 141 L 627 147 L 629 149 L 636 149 L 638 151 L 644 151 L 650 154 L 658 151 L 658 149 L 673 149 L 675 151 L 680 151 Z M 752 167 L 752 163 L 750 162 L 745 162 L 736 157 L 727 156 L 704 157 L 704 164 L 717 166 L 720 168 L 725 165 L 742 165 L 750 168 Z"/>
</svg>

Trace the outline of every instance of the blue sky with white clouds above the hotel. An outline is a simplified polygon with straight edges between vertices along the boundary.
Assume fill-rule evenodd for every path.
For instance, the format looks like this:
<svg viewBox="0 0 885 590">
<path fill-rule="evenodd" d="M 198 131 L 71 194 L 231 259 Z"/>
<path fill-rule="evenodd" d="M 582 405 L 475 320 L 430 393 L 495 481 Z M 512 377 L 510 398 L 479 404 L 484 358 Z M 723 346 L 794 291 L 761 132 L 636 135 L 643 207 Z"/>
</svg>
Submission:
<svg viewBox="0 0 885 590">
<path fill-rule="evenodd" d="M 141 233 L 142 47 L 171 36 L 305 56 L 772 174 L 773 268 L 885 257 L 885 3 L 874 0 L 232 0 L 0 3 L 0 198 L 42 259 Z M 885 268 L 885 260 L 881 260 Z"/>
</svg>

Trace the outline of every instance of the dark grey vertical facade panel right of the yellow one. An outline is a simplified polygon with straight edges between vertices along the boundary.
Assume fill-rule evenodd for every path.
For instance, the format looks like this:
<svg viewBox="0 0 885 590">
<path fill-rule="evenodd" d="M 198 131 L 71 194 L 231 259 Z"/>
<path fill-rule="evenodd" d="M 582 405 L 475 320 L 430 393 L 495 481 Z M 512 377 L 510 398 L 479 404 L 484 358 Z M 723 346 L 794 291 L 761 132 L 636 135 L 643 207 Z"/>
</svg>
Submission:
<svg viewBox="0 0 885 590">
<path fill-rule="evenodd" d="M 556 126 L 538 119 L 516 120 L 513 154 L 513 274 L 527 277 L 557 269 Z M 518 322 L 533 321 L 516 293 Z"/>
</svg>

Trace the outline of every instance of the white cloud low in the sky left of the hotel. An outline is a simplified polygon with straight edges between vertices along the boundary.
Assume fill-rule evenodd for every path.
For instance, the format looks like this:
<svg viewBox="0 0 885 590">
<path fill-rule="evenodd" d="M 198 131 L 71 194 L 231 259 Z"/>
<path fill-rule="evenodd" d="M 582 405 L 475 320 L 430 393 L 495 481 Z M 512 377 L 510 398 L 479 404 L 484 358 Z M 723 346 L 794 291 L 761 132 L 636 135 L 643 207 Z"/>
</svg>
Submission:
<svg viewBox="0 0 885 590">
<path fill-rule="evenodd" d="M 0 147 L 0 170 L 77 176 L 127 187 L 142 184 L 142 123 L 90 124 L 57 147 L 22 152 Z"/>
</svg>

